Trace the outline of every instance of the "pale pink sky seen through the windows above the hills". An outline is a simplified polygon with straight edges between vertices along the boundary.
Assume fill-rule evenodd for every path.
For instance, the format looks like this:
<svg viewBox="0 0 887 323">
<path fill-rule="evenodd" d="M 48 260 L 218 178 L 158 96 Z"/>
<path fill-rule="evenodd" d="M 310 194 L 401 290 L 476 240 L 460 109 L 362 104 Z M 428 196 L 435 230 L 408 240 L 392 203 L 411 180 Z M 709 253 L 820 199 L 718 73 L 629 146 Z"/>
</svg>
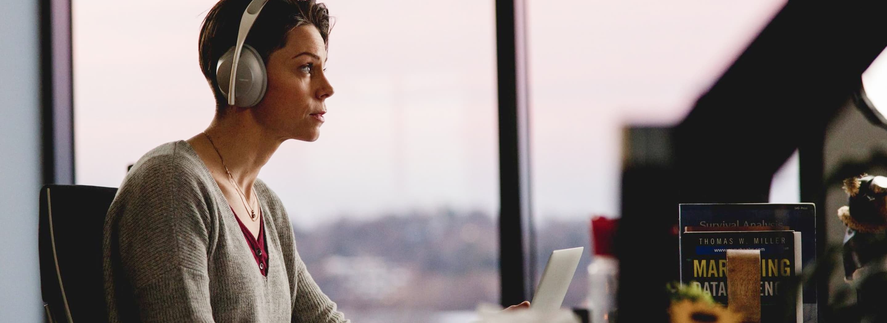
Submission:
<svg viewBox="0 0 887 323">
<path fill-rule="evenodd" d="M 783 3 L 529 1 L 538 217 L 616 216 L 624 123 L 679 121 Z M 171 4 L 73 4 L 78 184 L 120 185 L 128 164 L 212 118 L 196 45 L 215 1 Z M 287 142 L 260 175 L 294 223 L 495 213 L 493 2 L 326 4 L 336 94 L 321 138 Z"/>
</svg>

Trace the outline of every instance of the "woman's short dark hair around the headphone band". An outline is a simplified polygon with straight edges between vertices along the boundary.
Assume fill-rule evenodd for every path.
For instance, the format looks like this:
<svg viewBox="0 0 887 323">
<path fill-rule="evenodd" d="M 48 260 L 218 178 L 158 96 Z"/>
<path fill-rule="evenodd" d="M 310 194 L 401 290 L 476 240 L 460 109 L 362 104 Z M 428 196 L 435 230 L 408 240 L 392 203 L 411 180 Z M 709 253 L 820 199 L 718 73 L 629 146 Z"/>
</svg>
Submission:
<svg viewBox="0 0 887 323">
<path fill-rule="evenodd" d="M 216 95 L 217 111 L 227 106 L 228 101 L 216 82 L 216 63 L 237 42 L 240 18 L 249 3 L 250 0 L 221 0 L 209 10 L 200 27 L 200 70 Z M 287 33 L 305 25 L 318 28 L 324 45 L 328 44 L 333 26 L 325 4 L 315 0 L 269 0 L 250 29 L 246 43 L 268 64 L 271 52 L 287 45 Z"/>
</svg>

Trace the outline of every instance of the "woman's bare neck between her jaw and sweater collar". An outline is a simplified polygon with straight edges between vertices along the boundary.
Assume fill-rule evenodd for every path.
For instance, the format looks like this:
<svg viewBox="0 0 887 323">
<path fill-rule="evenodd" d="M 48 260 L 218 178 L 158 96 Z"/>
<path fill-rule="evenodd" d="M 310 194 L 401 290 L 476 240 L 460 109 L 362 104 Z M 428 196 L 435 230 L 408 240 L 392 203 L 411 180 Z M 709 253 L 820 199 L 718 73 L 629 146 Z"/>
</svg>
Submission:
<svg viewBox="0 0 887 323">
<path fill-rule="evenodd" d="M 227 168 L 251 200 L 248 197 L 252 196 L 255 178 L 283 141 L 263 131 L 248 109 L 229 109 L 236 111 L 216 114 L 203 133 L 186 141 L 209 169 L 224 173 Z"/>
</svg>

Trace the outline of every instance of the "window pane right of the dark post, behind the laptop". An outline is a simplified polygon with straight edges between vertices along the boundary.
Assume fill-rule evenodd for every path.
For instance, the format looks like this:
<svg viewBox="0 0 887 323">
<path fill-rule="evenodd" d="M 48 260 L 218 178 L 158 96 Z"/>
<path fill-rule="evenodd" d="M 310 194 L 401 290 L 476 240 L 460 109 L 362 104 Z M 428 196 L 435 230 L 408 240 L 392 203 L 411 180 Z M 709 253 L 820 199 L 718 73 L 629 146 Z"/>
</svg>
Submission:
<svg viewBox="0 0 887 323">
<path fill-rule="evenodd" d="M 679 122 L 782 4 L 528 0 L 537 272 L 554 248 L 588 247 L 593 215 L 620 216 L 624 127 Z M 565 306 L 585 302 L 590 258 Z"/>
</svg>

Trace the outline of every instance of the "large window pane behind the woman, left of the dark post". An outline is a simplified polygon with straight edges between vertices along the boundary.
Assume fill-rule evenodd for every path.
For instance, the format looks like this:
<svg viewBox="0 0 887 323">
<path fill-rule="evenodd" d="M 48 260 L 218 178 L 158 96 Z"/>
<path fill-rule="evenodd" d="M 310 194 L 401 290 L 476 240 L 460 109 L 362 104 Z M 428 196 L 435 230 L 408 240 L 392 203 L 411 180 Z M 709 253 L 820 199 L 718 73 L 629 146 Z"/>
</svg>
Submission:
<svg viewBox="0 0 887 323">
<path fill-rule="evenodd" d="M 336 18 L 327 122 L 260 178 L 346 315 L 466 321 L 498 303 L 494 4 L 321 2 Z M 197 39 L 215 3 L 74 3 L 77 184 L 118 186 L 142 154 L 208 125 Z"/>
</svg>

